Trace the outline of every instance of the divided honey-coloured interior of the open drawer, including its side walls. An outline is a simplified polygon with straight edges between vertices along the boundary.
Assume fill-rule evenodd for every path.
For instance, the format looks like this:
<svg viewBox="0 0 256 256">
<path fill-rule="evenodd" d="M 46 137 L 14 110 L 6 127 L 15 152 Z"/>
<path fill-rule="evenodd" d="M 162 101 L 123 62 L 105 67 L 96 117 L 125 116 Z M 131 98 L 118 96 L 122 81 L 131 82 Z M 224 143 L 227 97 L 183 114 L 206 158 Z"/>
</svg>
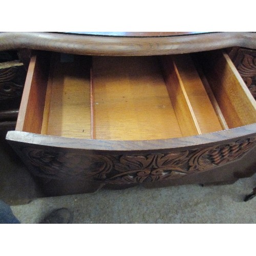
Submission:
<svg viewBox="0 0 256 256">
<path fill-rule="evenodd" d="M 256 103 L 222 51 L 31 58 L 16 131 L 104 140 L 193 136 L 256 122 Z"/>
</svg>

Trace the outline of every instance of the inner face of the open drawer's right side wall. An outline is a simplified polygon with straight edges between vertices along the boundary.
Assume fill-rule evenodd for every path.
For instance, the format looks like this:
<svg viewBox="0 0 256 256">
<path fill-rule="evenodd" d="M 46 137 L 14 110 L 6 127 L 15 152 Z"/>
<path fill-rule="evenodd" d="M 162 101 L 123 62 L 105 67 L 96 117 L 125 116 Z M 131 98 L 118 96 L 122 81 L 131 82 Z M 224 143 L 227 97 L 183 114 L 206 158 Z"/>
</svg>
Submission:
<svg viewBox="0 0 256 256">
<path fill-rule="evenodd" d="M 255 123 L 256 102 L 228 55 L 214 51 L 199 56 L 228 127 Z"/>
</svg>

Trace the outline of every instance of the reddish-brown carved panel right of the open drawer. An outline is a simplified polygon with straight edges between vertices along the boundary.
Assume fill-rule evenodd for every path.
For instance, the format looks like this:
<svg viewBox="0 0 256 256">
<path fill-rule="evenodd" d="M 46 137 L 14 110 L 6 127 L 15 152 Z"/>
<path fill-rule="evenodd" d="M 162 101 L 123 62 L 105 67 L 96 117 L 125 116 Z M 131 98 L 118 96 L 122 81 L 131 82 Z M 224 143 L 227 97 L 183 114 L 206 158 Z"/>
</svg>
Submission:
<svg viewBox="0 0 256 256">
<path fill-rule="evenodd" d="M 233 57 L 233 62 L 256 99 L 256 50 L 240 48 Z"/>
</svg>

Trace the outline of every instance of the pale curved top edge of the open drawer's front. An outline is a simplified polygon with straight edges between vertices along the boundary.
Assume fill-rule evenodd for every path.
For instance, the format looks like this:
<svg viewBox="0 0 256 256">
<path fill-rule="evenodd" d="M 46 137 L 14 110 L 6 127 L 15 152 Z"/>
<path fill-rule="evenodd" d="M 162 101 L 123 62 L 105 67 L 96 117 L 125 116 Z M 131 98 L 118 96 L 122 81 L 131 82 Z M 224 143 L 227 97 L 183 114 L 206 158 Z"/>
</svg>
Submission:
<svg viewBox="0 0 256 256">
<path fill-rule="evenodd" d="M 156 151 L 169 150 L 182 147 L 193 147 L 211 144 L 226 143 L 229 140 L 238 140 L 256 136 L 256 123 L 241 126 L 225 131 L 172 138 L 163 140 L 118 141 L 77 139 L 58 136 L 40 135 L 27 132 L 9 131 L 6 139 L 9 141 L 23 142 L 36 145 L 53 146 L 60 148 L 76 148 L 79 150 L 93 151 Z"/>
</svg>

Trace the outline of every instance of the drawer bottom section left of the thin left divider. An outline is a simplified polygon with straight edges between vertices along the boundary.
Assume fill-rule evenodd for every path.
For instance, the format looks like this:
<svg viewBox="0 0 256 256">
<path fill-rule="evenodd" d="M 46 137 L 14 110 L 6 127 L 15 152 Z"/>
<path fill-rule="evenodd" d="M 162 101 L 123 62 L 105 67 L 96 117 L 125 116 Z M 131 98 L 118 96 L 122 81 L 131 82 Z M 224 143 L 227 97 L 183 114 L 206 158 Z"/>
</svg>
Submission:
<svg viewBox="0 0 256 256">
<path fill-rule="evenodd" d="M 91 138 L 90 66 L 87 58 L 55 60 L 46 99 L 47 135 Z M 49 108 L 49 109 L 48 109 Z"/>
</svg>

